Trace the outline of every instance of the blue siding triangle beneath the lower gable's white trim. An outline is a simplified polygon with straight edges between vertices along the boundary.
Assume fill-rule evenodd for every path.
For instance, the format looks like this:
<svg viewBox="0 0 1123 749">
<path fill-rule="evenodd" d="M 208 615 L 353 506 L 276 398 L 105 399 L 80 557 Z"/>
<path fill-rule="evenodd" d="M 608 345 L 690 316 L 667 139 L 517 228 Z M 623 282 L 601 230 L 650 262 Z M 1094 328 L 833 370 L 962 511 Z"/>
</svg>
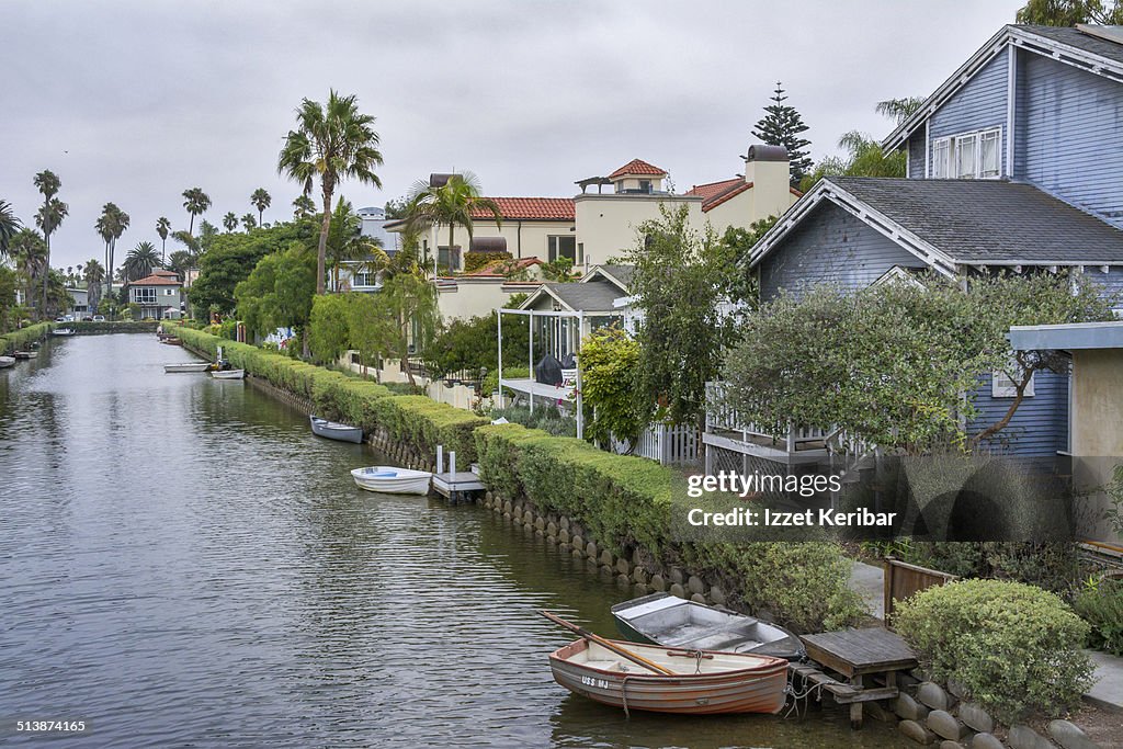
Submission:
<svg viewBox="0 0 1123 749">
<path fill-rule="evenodd" d="M 760 298 L 774 298 L 780 289 L 833 283 L 865 289 L 894 265 L 928 267 L 853 214 L 834 203 L 820 203 L 760 263 Z"/>
</svg>

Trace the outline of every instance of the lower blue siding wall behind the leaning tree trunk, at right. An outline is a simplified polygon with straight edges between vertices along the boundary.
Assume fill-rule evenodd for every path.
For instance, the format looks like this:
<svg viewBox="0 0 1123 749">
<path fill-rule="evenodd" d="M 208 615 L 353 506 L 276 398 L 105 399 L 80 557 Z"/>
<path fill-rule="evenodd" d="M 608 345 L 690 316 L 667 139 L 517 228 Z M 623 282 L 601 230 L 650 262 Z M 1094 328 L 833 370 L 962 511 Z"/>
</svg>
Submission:
<svg viewBox="0 0 1123 749">
<path fill-rule="evenodd" d="M 1007 455 L 1050 456 L 1068 449 L 1068 375 L 1038 372 L 1033 375 L 1032 398 L 1017 407 L 1010 424 L 988 442 Z M 978 415 L 968 422 L 967 432 L 977 435 L 1010 410 L 1012 399 L 992 398 L 990 377 L 975 391 Z"/>
</svg>

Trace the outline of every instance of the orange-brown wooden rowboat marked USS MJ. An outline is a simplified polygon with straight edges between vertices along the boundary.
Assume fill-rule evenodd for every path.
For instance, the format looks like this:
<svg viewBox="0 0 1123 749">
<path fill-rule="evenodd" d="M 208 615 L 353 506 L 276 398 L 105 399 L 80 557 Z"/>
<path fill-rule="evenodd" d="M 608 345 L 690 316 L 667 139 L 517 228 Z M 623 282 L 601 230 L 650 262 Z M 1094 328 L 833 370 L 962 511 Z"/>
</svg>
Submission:
<svg viewBox="0 0 1123 749">
<path fill-rule="evenodd" d="M 663 666 L 673 664 L 675 675 L 648 672 L 596 643 L 577 640 L 550 654 L 554 681 L 575 694 L 629 711 L 775 714 L 784 707 L 787 661 L 779 658 L 703 652 L 699 660 L 685 650 L 668 657 L 673 651 L 658 646 L 618 645 Z M 719 661 L 725 670 L 713 669 Z M 695 673 L 699 664 L 702 673 Z"/>
</svg>

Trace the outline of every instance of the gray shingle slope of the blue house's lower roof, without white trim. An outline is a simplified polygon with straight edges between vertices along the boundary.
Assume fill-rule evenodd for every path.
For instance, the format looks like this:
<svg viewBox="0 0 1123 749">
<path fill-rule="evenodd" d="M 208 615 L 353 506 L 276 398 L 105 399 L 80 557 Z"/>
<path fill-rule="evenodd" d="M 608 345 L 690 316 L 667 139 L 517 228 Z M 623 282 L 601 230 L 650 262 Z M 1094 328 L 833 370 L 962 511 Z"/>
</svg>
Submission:
<svg viewBox="0 0 1123 749">
<path fill-rule="evenodd" d="M 827 179 L 957 263 L 1123 262 L 1123 231 L 1028 184 Z"/>
</svg>

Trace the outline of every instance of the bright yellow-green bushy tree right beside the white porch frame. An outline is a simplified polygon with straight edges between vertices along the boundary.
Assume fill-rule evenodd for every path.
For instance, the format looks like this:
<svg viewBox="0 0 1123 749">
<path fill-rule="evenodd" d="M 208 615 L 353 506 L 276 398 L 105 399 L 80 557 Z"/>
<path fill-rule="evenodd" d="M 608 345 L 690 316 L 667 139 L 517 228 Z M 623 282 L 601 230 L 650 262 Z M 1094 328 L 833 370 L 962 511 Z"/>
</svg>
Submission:
<svg viewBox="0 0 1123 749">
<path fill-rule="evenodd" d="M 634 450 L 646 415 L 636 408 L 632 384 L 641 366 L 639 342 L 619 328 L 596 330 L 582 341 L 581 366 L 586 433 L 602 445 L 626 440 Z"/>
</svg>

